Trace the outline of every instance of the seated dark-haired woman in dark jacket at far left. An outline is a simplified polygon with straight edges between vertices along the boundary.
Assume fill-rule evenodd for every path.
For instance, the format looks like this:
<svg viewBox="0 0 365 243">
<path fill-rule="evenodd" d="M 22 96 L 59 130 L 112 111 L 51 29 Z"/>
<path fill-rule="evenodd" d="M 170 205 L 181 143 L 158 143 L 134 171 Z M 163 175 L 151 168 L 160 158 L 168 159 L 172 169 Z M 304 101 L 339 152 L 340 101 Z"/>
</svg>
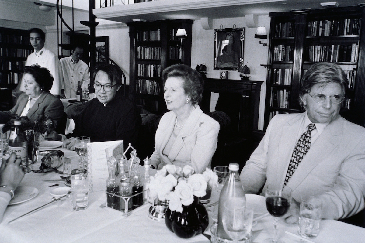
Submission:
<svg viewBox="0 0 365 243">
<path fill-rule="evenodd" d="M 15 106 L 8 111 L 0 111 L 0 124 L 9 121 L 12 115 L 26 115 L 34 126 L 40 115 L 46 115 L 58 122 L 64 114 L 62 102 L 49 92 L 53 85 L 53 77 L 45 67 L 38 65 L 25 66 L 22 82 L 25 92 L 22 93 Z"/>
</svg>

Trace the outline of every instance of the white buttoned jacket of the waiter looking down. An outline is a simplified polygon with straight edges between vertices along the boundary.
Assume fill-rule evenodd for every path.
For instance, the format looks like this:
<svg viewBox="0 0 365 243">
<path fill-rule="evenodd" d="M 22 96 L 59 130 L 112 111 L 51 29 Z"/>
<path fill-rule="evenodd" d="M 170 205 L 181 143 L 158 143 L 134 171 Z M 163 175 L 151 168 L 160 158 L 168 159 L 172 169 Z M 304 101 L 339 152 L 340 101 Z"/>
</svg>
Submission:
<svg viewBox="0 0 365 243">
<path fill-rule="evenodd" d="M 63 82 L 61 88 L 64 89 L 67 98 L 76 97 L 78 82 L 81 82 L 81 89 L 88 88 L 90 83 L 89 67 L 79 60 L 75 62 L 71 56 L 59 60 L 62 66 Z"/>
</svg>

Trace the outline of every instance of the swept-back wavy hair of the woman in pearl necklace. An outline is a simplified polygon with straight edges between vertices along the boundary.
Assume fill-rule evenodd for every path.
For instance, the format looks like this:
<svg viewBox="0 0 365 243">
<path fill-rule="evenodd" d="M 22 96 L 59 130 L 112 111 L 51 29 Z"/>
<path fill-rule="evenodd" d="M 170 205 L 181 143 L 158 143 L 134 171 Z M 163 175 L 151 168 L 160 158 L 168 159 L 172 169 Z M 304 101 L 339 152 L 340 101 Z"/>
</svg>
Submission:
<svg viewBox="0 0 365 243">
<path fill-rule="evenodd" d="M 203 99 L 204 81 L 201 74 L 193 68 L 184 64 L 175 64 L 165 68 L 162 72 L 162 81 L 165 86 L 166 80 L 170 77 L 181 78 L 185 94 L 191 97 L 191 103 L 197 105 Z"/>
</svg>

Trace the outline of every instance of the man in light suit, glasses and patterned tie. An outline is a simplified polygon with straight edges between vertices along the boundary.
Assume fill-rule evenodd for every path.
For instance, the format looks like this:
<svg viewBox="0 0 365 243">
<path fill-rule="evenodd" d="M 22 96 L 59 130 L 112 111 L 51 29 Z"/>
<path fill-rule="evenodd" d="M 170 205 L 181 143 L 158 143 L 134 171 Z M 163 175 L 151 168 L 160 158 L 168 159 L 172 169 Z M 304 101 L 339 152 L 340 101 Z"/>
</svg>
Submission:
<svg viewBox="0 0 365 243">
<path fill-rule="evenodd" d="M 365 205 L 365 128 L 339 115 L 347 79 L 337 64 L 312 65 L 301 83 L 299 102 L 306 112 L 272 118 L 242 169 L 243 187 L 246 193 L 257 193 L 262 186 L 264 193 L 268 184 L 290 187 L 295 202 L 285 216 L 287 223 L 297 221 L 305 195 L 322 200 L 324 219 L 349 217 Z M 293 168 L 293 151 L 310 124 L 315 128 L 308 152 Z"/>
</svg>

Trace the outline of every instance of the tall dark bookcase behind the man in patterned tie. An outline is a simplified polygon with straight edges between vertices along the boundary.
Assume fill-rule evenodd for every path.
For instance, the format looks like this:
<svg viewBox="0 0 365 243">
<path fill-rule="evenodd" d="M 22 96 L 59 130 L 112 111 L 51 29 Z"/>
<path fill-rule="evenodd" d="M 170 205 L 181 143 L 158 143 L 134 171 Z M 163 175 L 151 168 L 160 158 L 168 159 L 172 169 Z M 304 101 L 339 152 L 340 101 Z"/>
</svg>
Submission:
<svg viewBox="0 0 365 243">
<path fill-rule="evenodd" d="M 265 128 L 276 114 L 304 111 L 300 80 L 316 62 L 339 64 L 349 80 L 343 110 L 365 124 L 364 6 L 270 13 Z"/>
</svg>

